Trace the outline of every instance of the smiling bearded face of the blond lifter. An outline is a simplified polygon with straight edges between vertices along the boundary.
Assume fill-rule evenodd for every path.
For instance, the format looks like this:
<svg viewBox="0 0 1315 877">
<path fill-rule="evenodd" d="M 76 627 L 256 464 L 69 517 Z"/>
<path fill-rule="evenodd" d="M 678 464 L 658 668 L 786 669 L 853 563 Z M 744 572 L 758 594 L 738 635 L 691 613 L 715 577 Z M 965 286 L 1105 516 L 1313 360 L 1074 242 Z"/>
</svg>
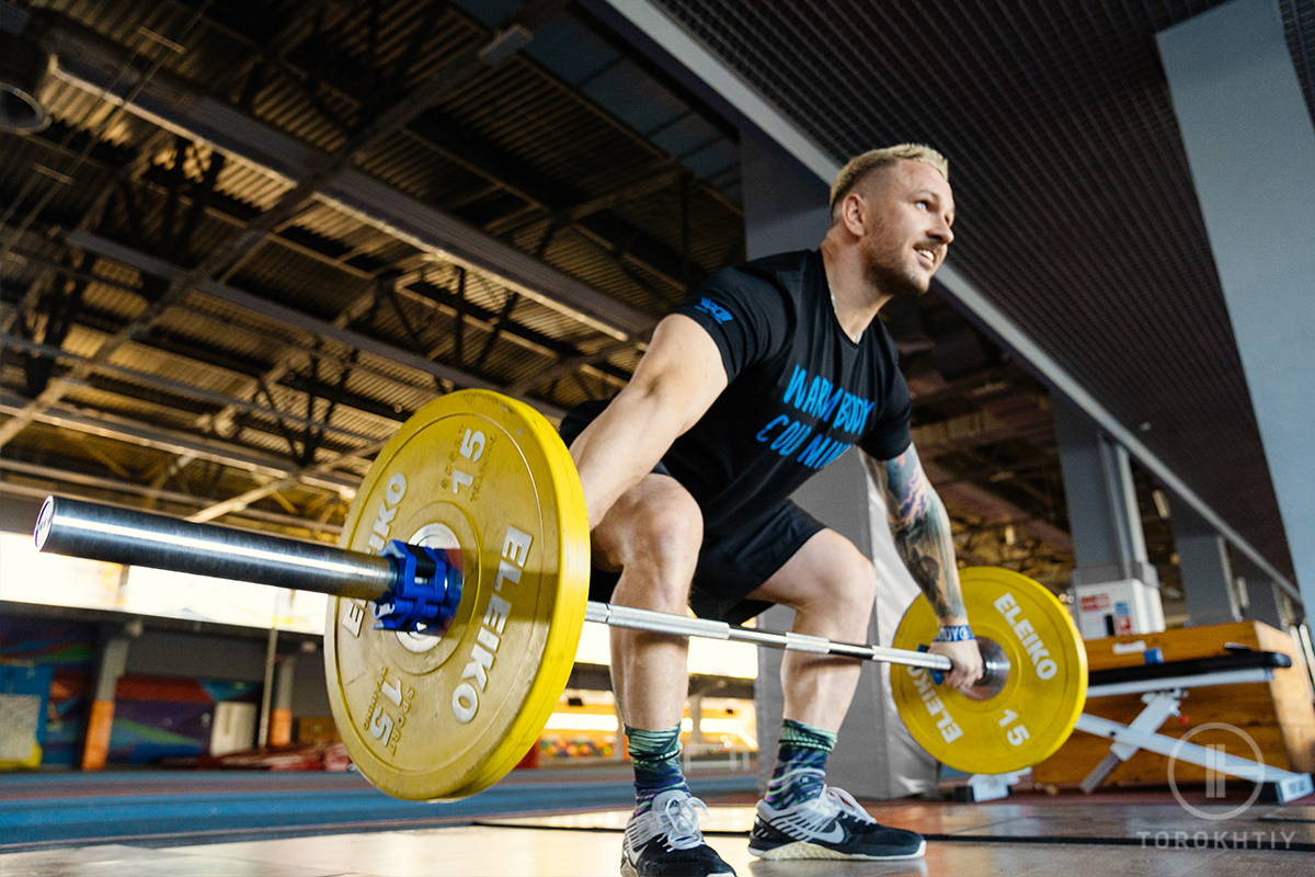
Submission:
<svg viewBox="0 0 1315 877">
<path fill-rule="evenodd" d="M 859 241 L 871 283 L 889 296 L 920 296 L 945 260 L 955 196 L 936 168 L 901 160 L 873 171 L 857 188 L 864 200 Z"/>
</svg>

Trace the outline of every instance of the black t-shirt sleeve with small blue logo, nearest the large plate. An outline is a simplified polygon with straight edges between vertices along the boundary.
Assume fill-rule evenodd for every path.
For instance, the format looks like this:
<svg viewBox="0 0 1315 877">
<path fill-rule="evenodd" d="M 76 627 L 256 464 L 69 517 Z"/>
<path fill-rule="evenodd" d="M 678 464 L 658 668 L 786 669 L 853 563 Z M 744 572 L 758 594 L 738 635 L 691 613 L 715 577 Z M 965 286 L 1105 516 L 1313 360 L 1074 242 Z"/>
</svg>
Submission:
<svg viewBox="0 0 1315 877">
<path fill-rule="evenodd" d="M 736 268 L 707 277 L 672 313 L 689 317 L 711 335 L 722 354 L 727 383 L 778 352 L 792 321 L 782 289 Z"/>
</svg>

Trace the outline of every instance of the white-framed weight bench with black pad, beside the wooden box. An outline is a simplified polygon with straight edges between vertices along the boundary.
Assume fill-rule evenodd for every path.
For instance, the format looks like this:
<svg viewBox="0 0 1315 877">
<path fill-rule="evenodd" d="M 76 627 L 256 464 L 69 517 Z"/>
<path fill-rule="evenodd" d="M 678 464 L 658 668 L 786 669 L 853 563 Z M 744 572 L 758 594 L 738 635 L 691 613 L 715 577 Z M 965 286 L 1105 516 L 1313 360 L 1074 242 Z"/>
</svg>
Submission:
<svg viewBox="0 0 1315 877">
<path fill-rule="evenodd" d="M 1131 759 L 1139 749 L 1147 749 L 1198 764 L 1207 770 L 1261 784 L 1265 798 L 1276 803 L 1287 803 L 1311 794 L 1312 784 L 1308 773 L 1282 770 L 1261 761 L 1227 755 L 1195 743 L 1184 743 L 1159 732 L 1170 715 L 1178 715 L 1178 707 L 1187 696 L 1187 689 L 1203 685 L 1268 682 L 1274 676 L 1274 668 L 1291 665 L 1293 659 L 1282 652 L 1230 650 L 1227 655 L 1091 672 L 1086 689 L 1088 698 L 1141 694 L 1145 707 L 1128 724 L 1090 713 L 1078 717 L 1080 731 L 1114 740 L 1110 753 L 1082 780 L 1082 792 L 1093 792 L 1119 764 Z"/>
</svg>

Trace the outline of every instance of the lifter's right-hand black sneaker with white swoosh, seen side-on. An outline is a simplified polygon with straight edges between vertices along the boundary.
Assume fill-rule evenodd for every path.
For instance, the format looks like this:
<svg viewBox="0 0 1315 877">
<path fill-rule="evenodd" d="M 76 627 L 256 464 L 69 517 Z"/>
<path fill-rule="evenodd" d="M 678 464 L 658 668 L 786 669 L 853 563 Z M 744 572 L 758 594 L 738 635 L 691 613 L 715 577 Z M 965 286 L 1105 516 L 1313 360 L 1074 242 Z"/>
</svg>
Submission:
<svg viewBox="0 0 1315 877">
<path fill-rule="evenodd" d="M 748 851 L 761 859 L 920 859 L 922 835 L 882 826 L 844 789 L 822 786 L 809 801 L 757 802 Z"/>
</svg>

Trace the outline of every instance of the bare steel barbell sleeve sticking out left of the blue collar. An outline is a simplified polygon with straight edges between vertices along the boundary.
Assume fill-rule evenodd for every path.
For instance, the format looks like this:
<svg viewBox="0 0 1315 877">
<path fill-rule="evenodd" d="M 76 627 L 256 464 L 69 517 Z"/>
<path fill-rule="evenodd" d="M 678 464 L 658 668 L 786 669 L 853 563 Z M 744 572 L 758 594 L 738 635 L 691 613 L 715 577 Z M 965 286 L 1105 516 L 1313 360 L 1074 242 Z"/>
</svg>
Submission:
<svg viewBox="0 0 1315 877">
<path fill-rule="evenodd" d="M 33 538 L 39 551 L 334 597 L 379 600 L 396 580 L 379 555 L 67 497 L 46 497 Z"/>
</svg>

